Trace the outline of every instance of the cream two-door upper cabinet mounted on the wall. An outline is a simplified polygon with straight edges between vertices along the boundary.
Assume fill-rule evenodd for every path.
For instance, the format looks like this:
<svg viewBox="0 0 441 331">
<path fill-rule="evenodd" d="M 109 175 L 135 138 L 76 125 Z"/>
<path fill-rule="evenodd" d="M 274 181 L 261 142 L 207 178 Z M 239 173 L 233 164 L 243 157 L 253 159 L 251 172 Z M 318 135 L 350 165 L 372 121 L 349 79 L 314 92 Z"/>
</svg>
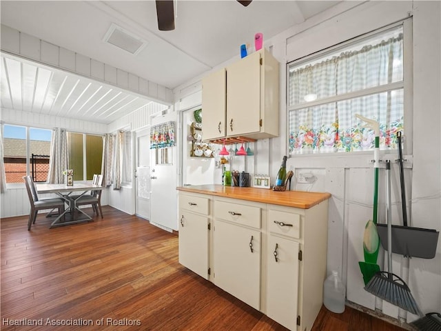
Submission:
<svg viewBox="0 0 441 331">
<path fill-rule="evenodd" d="M 266 49 L 203 79 L 203 139 L 278 137 L 279 63 Z"/>
</svg>

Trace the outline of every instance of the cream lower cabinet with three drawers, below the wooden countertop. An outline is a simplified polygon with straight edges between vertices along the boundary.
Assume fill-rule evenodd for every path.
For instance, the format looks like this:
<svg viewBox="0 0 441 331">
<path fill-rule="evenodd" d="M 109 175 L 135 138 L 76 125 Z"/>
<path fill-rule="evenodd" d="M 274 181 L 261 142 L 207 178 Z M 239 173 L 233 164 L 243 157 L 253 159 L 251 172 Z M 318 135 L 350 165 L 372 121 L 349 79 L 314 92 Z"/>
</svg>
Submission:
<svg viewBox="0 0 441 331">
<path fill-rule="evenodd" d="M 289 330 L 311 330 L 326 277 L 327 200 L 301 209 L 180 192 L 179 203 L 181 264 Z"/>
</svg>

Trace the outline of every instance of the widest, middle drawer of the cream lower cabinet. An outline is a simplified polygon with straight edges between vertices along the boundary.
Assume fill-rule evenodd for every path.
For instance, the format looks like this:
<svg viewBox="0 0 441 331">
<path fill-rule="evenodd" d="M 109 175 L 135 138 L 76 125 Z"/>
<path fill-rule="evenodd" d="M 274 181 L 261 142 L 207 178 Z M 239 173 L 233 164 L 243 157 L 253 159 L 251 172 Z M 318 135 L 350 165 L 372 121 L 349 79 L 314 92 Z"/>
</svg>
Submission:
<svg viewBox="0 0 441 331">
<path fill-rule="evenodd" d="M 260 229 L 260 208 L 256 206 L 215 201 L 214 215 L 218 219 Z"/>
</svg>

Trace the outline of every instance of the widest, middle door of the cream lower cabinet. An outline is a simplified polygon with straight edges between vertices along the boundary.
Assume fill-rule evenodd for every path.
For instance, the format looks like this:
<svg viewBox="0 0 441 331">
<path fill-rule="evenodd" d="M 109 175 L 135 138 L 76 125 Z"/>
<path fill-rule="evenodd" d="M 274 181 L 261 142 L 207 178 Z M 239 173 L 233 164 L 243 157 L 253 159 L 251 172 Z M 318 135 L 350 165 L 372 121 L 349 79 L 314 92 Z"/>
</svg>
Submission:
<svg viewBox="0 0 441 331">
<path fill-rule="evenodd" d="M 214 283 L 259 310 L 260 231 L 216 220 L 213 236 Z"/>
</svg>

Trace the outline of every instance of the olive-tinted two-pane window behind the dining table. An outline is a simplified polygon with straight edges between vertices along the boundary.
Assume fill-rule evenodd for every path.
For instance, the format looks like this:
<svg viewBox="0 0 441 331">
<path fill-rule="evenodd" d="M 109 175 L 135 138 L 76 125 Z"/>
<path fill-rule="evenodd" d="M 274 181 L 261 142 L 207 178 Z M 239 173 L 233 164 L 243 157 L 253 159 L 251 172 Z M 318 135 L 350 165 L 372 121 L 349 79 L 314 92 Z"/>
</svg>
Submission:
<svg viewBox="0 0 441 331">
<path fill-rule="evenodd" d="M 103 137 L 94 134 L 68 132 L 69 169 L 74 170 L 74 181 L 91 181 L 101 174 Z"/>
</svg>

